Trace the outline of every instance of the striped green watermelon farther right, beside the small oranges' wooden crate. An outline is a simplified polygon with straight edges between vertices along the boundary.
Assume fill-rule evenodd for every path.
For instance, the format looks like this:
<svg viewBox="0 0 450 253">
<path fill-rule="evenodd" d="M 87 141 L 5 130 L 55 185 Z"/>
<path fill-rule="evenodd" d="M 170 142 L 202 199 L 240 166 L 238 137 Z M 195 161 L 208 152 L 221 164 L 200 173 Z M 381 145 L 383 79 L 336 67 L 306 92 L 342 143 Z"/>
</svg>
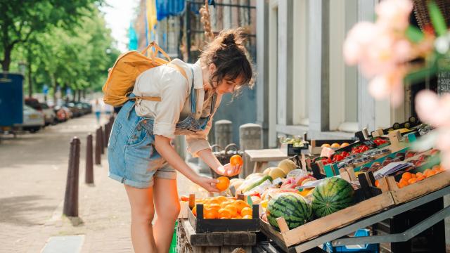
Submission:
<svg viewBox="0 0 450 253">
<path fill-rule="evenodd" d="M 352 185 L 340 178 L 326 179 L 314 188 L 311 207 L 314 216 L 321 218 L 345 209 L 354 203 Z"/>
</svg>

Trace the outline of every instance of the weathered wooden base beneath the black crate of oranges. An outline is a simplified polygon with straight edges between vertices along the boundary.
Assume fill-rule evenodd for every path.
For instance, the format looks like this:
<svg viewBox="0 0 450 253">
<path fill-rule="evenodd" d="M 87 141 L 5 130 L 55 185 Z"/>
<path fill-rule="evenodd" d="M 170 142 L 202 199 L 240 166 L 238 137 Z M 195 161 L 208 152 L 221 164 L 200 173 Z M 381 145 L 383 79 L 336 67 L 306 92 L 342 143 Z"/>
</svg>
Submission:
<svg viewBox="0 0 450 253">
<path fill-rule="evenodd" d="M 195 233 L 188 220 L 179 219 L 176 240 L 179 253 L 250 253 L 256 245 L 256 233 Z"/>
</svg>

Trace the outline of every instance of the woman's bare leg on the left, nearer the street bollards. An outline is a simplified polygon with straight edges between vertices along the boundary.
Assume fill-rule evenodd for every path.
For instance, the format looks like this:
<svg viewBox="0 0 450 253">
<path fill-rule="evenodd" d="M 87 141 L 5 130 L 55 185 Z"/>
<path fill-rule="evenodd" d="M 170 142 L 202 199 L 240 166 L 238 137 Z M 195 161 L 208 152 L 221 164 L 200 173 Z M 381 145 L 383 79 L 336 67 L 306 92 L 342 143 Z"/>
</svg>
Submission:
<svg viewBox="0 0 450 253">
<path fill-rule="evenodd" d="M 131 205 L 131 242 L 134 252 L 156 252 L 152 228 L 155 214 L 153 188 L 141 189 L 125 185 L 125 189 Z"/>
</svg>

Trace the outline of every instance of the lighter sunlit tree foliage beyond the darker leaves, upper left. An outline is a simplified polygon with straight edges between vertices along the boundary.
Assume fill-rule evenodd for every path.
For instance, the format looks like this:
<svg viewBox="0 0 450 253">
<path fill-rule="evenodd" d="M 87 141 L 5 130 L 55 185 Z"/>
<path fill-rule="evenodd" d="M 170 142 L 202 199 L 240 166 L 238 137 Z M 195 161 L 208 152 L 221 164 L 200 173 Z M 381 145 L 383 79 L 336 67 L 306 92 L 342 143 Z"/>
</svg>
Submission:
<svg viewBox="0 0 450 253">
<path fill-rule="evenodd" d="M 108 68 L 113 66 L 120 52 L 114 47 L 115 41 L 105 25 L 103 13 L 98 11 L 96 4 L 89 2 L 93 1 L 75 1 L 70 9 L 76 9 L 77 15 L 68 15 L 70 11 L 65 17 L 55 14 L 53 24 L 44 25 L 45 29 L 33 32 L 15 46 L 11 67 L 17 70 L 18 62 L 31 63 L 34 91 L 41 91 L 44 84 L 53 87 L 51 92 L 57 85 L 68 86 L 72 90 L 101 89 Z M 79 3 L 86 5 L 75 8 Z M 55 11 L 50 6 L 48 8 L 50 12 Z"/>
</svg>

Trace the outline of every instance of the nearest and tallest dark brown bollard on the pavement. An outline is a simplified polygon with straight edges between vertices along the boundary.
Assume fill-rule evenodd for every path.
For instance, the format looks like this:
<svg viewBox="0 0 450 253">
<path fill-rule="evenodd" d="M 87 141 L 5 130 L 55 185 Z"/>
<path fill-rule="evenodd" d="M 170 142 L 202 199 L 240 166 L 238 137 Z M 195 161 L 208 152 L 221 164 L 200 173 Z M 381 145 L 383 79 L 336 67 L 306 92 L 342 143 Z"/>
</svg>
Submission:
<svg viewBox="0 0 450 253">
<path fill-rule="evenodd" d="M 65 183 L 64 209 L 65 216 L 78 216 L 78 175 L 79 175 L 79 138 L 70 141 L 68 181 Z"/>
</svg>

